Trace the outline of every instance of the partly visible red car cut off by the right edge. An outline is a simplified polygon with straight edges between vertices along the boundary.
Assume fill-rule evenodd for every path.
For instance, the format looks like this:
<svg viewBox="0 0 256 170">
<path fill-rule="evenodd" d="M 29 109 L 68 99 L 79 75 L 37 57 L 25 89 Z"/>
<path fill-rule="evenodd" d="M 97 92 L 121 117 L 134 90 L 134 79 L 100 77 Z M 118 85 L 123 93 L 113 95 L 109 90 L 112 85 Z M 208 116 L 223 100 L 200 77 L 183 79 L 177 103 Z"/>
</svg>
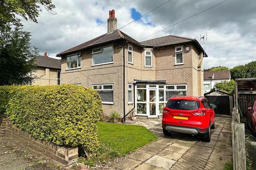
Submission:
<svg viewBox="0 0 256 170">
<path fill-rule="evenodd" d="M 248 126 L 256 133 L 256 99 L 249 103 L 246 117 Z"/>
</svg>

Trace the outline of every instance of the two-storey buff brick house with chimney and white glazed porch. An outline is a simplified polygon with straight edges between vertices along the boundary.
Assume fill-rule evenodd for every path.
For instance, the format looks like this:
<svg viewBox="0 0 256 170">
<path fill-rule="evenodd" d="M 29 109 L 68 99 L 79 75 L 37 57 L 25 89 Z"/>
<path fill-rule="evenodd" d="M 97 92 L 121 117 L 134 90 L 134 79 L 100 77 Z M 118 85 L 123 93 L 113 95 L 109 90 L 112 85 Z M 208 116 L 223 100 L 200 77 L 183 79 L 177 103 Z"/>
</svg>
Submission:
<svg viewBox="0 0 256 170">
<path fill-rule="evenodd" d="M 134 109 L 137 116 L 157 117 L 174 95 L 203 95 L 203 48 L 196 39 L 138 42 L 117 29 L 114 10 L 107 33 L 57 56 L 61 84 L 97 90 L 107 115 L 117 111 L 123 117 Z"/>
</svg>

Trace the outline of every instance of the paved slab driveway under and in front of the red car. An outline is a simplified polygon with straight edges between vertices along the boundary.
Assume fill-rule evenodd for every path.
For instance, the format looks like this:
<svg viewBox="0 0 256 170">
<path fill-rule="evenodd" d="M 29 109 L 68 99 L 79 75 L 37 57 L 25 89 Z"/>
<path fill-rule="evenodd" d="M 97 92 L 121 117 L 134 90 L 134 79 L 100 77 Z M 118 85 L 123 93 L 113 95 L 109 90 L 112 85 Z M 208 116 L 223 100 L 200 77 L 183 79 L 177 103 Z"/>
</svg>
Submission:
<svg viewBox="0 0 256 170">
<path fill-rule="evenodd" d="M 173 132 L 165 137 L 161 119 L 129 121 L 143 125 L 155 133 L 159 140 L 127 155 L 113 169 L 223 169 L 231 162 L 231 118 L 216 116 L 215 129 L 212 130 L 211 142 L 201 141 L 189 134 Z"/>
</svg>

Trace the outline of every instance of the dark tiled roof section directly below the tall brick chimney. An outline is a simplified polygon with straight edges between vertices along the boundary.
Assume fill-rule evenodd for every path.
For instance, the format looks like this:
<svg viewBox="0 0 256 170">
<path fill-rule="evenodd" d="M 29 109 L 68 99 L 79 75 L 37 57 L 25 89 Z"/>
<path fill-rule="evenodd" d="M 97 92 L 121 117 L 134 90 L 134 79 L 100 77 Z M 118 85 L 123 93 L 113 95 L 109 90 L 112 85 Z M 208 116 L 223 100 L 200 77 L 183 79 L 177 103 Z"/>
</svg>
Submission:
<svg viewBox="0 0 256 170">
<path fill-rule="evenodd" d="M 89 47 L 92 47 L 92 46 L 95 46 L 95 45 L 100 45 L 100 44 L 107 43 L 107 42 L 117 40 L 117 39 L 126 39 L 127 41 L 130 41 L 131 43 L 134 43 L 134 44 L 137 44 L 137 45 L 141 46 L 141 44 L 137 40 L 133 39 L 132 37 L 126 35 L 124 32 L 117 29 L 112 33 L 105 33 L 105 34 L 103 34 L 99 37 L 96 37 L 94 39 L 86 41 L 83 44 L 80 44 L 80 45 L 77 45 L 77 46 L 72 47 L 70 49 L 67 49 L 64 52 L 61 52 L 61 53 L 57 54 L 57 56 L 61 56 L 63 54 L 68 54 L 68 53 L 71 53 L 71 52 L 76 52 L 78 50 L 89 48 Z"/>
</svg>

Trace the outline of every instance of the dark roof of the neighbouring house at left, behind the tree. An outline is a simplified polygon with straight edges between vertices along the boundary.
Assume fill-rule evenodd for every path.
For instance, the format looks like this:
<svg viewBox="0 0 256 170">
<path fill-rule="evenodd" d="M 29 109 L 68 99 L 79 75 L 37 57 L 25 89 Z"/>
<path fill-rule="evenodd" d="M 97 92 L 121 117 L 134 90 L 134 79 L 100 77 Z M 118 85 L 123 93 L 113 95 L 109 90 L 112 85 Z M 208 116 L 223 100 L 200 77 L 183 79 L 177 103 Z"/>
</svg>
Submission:
<svg viewBox="0 0 256 170">
<path fill-rule="evenodd" d="M 61 60 L 45 56 L 36 57 L 34 64 L 39 67 L 61 69 Z"/>
</svg>

